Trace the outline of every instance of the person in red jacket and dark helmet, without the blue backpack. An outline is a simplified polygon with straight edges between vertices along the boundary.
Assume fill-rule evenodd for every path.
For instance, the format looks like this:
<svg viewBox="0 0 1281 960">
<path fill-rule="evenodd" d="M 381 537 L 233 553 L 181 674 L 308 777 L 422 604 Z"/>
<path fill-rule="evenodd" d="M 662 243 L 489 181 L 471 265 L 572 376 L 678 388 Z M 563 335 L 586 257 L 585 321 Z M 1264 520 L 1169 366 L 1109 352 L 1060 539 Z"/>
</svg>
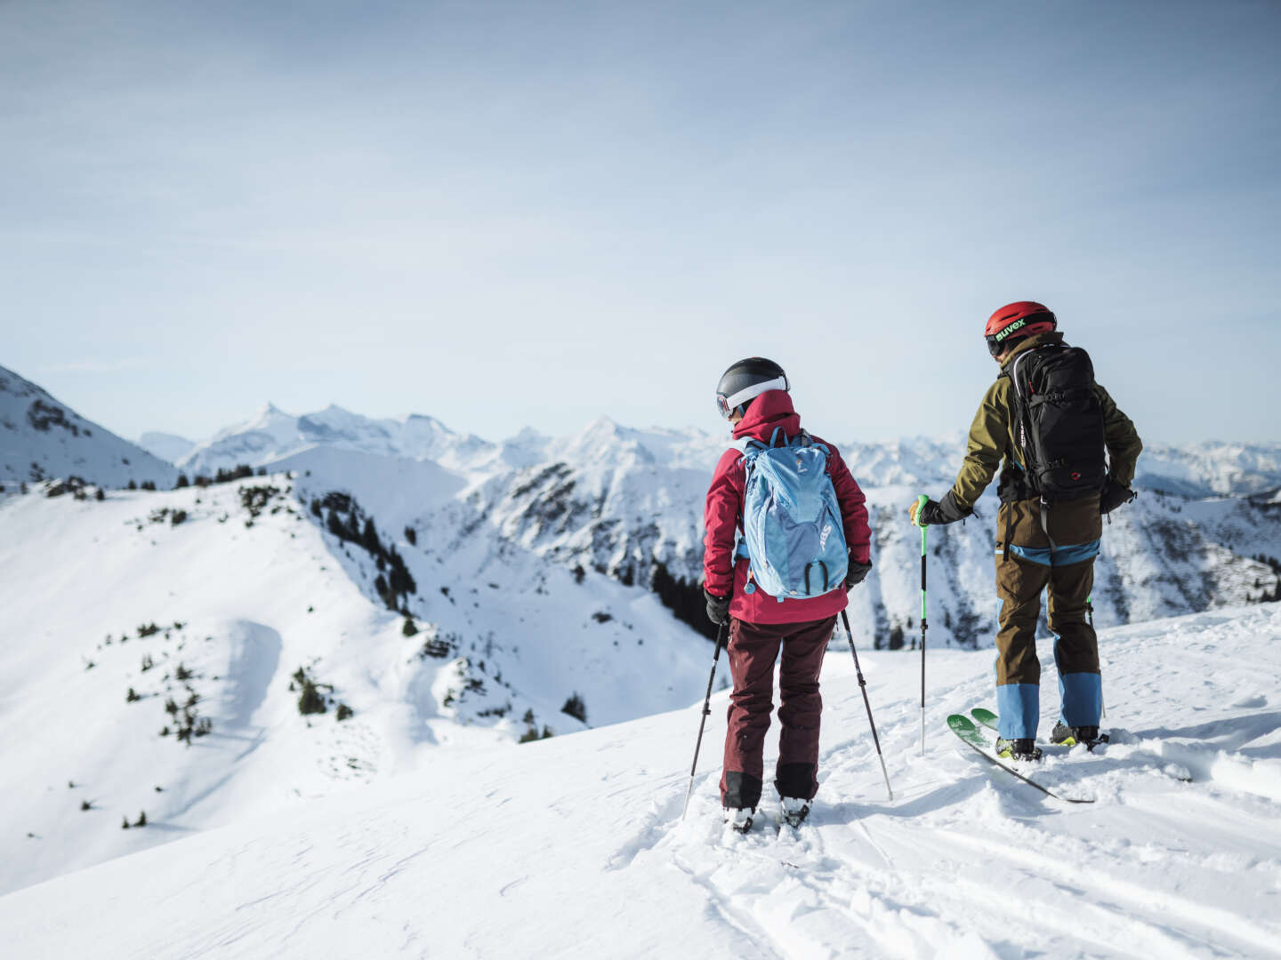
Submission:
<svg viewBox="0 0 1281 960">
<path fill-rule="evenodd" d="M 721 415 L 734 424 L 735 440 L 785 444 L 802 434 L 801 417 L 788 396 L 783 369 L 762 357 L 734 364 L 721 376 L 716 401 Z M 735 547 L 743 525 L 747 472 L 740 449 L 726 451 L 716 465 L 707 490 L 703 539 L 703 594 L 714 623 L 729 621 L 729 666 L 734 692 L 725 733 L 725 763 L 721 773 L 721 804 L 735 829 L 751 827 L 761 800 L 765 733 L 774 707 L 774 663 L 783 650 L 779 677 L 779 763 L 774 786 L 783 797 L 784 815 L 794 823 L 808 813 L 819 788 L 819 671 L 822 654 L 845 608 L 845 593 L 863 581 L 871 570 L 867 508 L 849 468 L 834 445 L 826 447 L 828 474 L 840 507 L 842 527 L 849 550 L 843 584 L 811 598 L 776 596 L 748 586 L 749 558 L 743 544 Z"/>
</svg>

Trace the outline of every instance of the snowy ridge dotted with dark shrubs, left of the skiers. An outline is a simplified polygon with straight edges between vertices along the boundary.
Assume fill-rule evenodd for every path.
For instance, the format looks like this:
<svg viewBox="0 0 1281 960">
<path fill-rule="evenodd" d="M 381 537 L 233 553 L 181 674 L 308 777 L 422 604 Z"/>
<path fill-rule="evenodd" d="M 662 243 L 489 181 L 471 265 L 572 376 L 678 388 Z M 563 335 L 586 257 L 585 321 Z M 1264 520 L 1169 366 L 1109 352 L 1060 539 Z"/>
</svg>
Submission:
<svg viewBox="0 0 1281 960">
<path fill-rule="evenodd" d="M 707 644 L 653 595 L 464 534 L 442 509 L 462 480 L 442 467 L 339 449 L 290 467 L 102 502 L 0 497 L 0 768 L 22 824 L 0 835 L 0 891 L 453 748 L 583 730 L 562 712 L 575 698 L 601 724 L 699 696 Z M 412 636 L 380 599 L 392 557 Z M 302 680 L 325 713 L 300 713 Z M 120 828 L 141 813 L 155 829 Z"/>
</svg>

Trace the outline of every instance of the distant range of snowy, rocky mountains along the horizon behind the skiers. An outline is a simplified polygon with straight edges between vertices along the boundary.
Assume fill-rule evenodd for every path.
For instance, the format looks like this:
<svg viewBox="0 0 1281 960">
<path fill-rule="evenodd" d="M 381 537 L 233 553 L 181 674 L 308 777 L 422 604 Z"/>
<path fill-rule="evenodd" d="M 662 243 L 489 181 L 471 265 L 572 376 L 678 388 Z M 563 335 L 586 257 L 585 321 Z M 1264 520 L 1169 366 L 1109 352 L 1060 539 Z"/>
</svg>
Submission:
<svg viewBox="0 0 1281 960">
<path fill-rule="evenodd" d="M 404 474 L 404 480 L 380 481 L 407 486 L 395 495 L 379 489 L 379 499 L 395 504 L 382 513 L 365 504 L 374 511 L 379 529 L 405 524 L 443 527 L 441 516 L 447 515 L 452 530 L 474 536 L 483 527 L 498 544 L 567 570 L 591 570 L 623 584 L 657 589 L 693 625 L 706 628 L 694 589 L 701 579 L 702 507 L 712 466 L 729 444 L 728 434 L 642 430 L 601 417 L 570 436 L 526 429 L 494 443 L 455 433 L 429 416 L 378 420 L 336 406 L 295 416 L 266 404 L 250 421 L 186 449 L 188 442 L 182 438 L 149 435 L 158 452 L 184 452 L 175 467 L 156 458 L 140 467 L 138 457 L 146 454 L 101 428 L 95 428 L 92 438 L 77 438 L 64 428 L 50 428 L 60 433 L 37 430 L 31 424 L 46 406 L 63 411 L 68 422 L 81 421 L 8 371 L 6 383 L 8 397 L 20 392 L 27 398 L 27 408 L 10 404 L 13 412 L 6 416 L 6 421 L 26 424 L 17 436 L 18 449 L 9 453 L 10 436 L 6 456 L 0 458 L 10 465 L 10 476 L 28 461 L 47 463 L 45 472 L 51 475 L 55 463 L 76 460 L 63 453 L 59 461 L 51 451 L 74 449 L 78 440 L 87 439 L 109 444 L 114 460 L 85 456 L 76 466 L 86 479 L 100 480 L 97 465 L 110 465 L 115 470 L 106 475 L 106 483 L 117 485 L 126 476 L 141 479 L 142 472 L 172 485 L 179 471 L 195 481 L 237 465 L 279 471 L 307 463 L 311 475 L 302 485 L 323 494 L 327 485 L 337 492 L 368 488 L 360 483 L 361 470 L 370 476 L 404 474 L 373 465 L 428 463 L 436 476 L 451 479 L 450 497 L 428 509 L 414 486 L 420 480 L 409 479 L 411 472 Z M 60 445 L 53 447 L 54 440 Z M 911 644 L 918 627 L 912 613 L 918 590 L 912 558 L 920 545 L 904 520 L 906 504 L 920 492 L 938 497 L 948 489 L 961 463 L 963 436 L 839 447 L 867 492 L 875 536 L 876 570 L 856 591 L 853 603 L 876 643 Z M 320 451 L 361 456 L 325 458 L 316 456 Z M 120 462 L 126 460 L 129 463 Z M 339 462 L 342 468 L 332 472 Z M 126 466 L 132 472 L 122 472 Z M 1144 495 L 1118 511 L 1107 526 L 1094 594 L 1100 623 L 1191 613 L 1277 591 L 1281 443 L 1149 442 L 1136 486 Z M 369 493 L 366 489 L 366 498 Z M 930 586 L 935 609 L 931 636 L 936 641 L 970 645 L 990 640 L 997 614 L 989 567 L 995 506 L 989 492 L 975 518 L 931 532 L 931 556 L 938 558 Z"/>
</svg>

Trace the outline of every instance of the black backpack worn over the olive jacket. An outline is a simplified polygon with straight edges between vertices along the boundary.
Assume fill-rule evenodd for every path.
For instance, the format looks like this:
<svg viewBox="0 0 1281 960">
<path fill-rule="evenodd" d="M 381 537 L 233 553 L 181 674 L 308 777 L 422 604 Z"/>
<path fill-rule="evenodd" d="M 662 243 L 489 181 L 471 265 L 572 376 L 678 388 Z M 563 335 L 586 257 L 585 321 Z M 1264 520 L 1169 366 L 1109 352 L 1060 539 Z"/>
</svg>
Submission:
<svg viewBox="0 0 1281 960">
<path fill-rule="evenodd" d="M 1015 435 L 1032 494 L 1053 502 L 1102 490 L 1108 465 L 1090 355 L 1048 343 L 1020 353 L 1002 375 L 1015 384 Z"/>
</svg>

